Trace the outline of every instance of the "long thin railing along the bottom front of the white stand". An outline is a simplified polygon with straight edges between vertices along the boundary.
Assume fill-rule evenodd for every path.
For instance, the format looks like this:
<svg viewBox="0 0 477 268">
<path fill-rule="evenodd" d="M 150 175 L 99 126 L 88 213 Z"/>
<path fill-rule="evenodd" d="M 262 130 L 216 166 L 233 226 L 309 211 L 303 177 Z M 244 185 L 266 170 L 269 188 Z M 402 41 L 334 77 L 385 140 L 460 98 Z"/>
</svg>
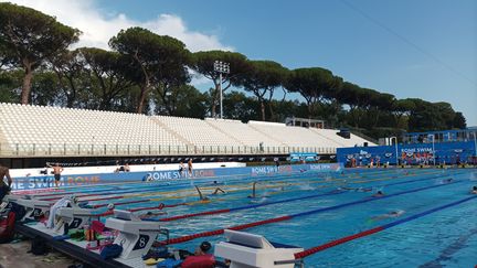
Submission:
<svg viewBox="0 0 477 268">
<path fill-rule="evenodd" d="M 71 144 L 0 143 L 0 157 L 119 157 L 119 156 L 213 156 L 288 154 L 290 152 L 336 153 L 329 147 L 163 146 L 163 144 Z"/>
</svg>

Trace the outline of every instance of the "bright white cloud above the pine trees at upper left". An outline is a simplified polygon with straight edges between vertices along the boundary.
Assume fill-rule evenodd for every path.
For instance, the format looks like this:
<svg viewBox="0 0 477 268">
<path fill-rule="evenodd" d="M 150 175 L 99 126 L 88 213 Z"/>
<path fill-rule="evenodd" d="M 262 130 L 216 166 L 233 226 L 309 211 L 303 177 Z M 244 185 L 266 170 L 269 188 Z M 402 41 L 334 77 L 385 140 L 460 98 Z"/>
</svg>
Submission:
<svg viewBox="0 0 477 268">
<path fill-rule="evenodd" d="M 158 14 L 156 19 L 148 21 L 135 21 L 126 14 L 104 14 L 96 7 L 94 0 L 9 0 L 10 2 L 36 9 L 43 13 L 56 17 L 56 20 L 80 29 L 83 34 L 80 46 L 95 46 L 108 49 L 108 40 L 116 35 L 121 29 L 141 26 L 149 29 L 160 35 L 170 35 L 181 40 L 192 51 L 227 50 L 215 35 L 208 35 L 197 31 L 188 30 L 184 21 L 174 14 Z"/>
</svg>

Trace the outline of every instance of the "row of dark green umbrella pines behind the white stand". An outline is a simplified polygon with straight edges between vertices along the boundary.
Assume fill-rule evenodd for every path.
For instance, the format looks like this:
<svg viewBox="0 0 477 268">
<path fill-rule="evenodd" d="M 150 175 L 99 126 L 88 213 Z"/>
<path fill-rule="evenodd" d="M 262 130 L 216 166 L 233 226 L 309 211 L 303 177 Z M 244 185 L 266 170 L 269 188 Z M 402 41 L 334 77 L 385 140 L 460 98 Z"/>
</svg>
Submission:
<svg viewBox="0 0 477 268">
<path fill-rule="evenodd" d="M 466 127 L 464 115 L 447 103 L 396 99 L 321 67 L 288 71 L 237 52 L 190 53 L 181 41 L 141 28 L 113 36 L 114 51 L 68 51 L 78 35 L 53 17 L 1 2 L 0 101 L 204 118 L 215 116 L 223 85 L 224 116 L 245 122 L 312 117 L 326 120 L 327 127 L 351 127 L 374 138 Z M 215 61 L 230 64 L 222 81 Z M 189 85 L 189 68 L 214 87 L 200 93 Z M 226 93 L 231 86 L 243 90 Z M 285 96 L 287 90 L 298 93 L 306 101 L 278 100 L 277 88 Z"/>
</svg>

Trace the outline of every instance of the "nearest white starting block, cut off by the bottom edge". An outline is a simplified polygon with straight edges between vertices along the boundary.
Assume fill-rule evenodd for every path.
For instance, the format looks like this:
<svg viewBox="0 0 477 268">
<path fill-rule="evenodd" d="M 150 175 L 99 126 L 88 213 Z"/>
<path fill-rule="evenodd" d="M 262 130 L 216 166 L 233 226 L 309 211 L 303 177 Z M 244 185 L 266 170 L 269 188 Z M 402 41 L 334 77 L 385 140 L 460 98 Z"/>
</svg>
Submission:
<svg viewBox="0 0 477 268">
<path fill-rule="evenodd" d="M 303 248 L 268 242 L 261 235 L 225 229 L 227 242 L 215 245 L 214 255 L 231 260 L 230 268 L 293 268 L 294 254 Z"/>
</svg>

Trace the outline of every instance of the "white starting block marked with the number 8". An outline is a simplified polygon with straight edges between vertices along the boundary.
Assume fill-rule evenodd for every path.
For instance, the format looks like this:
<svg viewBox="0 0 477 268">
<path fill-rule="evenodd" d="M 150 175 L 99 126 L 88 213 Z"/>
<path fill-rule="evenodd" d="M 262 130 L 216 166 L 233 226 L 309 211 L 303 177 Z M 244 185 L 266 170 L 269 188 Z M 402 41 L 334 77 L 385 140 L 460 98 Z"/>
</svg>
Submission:
<svg viewBox="0 0 477 268">
<path fill-rule="evenodd" d="M 123 246 L 120 258 L 141 257 L 149 251 L 158 234 L 169 235 L 158 222 L 141 221 L 131 212 L 115 210 L 114 215 L 106 219 L 106 227 L 119 231 L 114 244 Z"/>
</svg>

